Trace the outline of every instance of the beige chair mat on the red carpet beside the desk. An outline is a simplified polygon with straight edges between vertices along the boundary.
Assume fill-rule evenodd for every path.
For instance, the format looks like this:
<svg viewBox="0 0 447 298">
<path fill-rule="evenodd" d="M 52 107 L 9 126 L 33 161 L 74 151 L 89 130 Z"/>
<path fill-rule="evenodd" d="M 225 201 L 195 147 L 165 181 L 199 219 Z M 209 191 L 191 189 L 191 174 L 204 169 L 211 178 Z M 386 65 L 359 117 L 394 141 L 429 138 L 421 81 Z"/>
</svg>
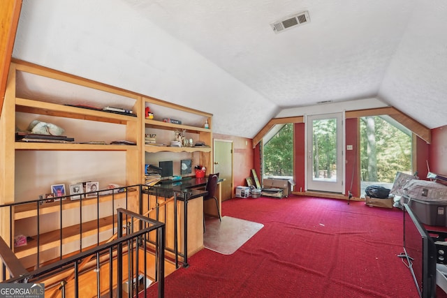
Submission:
<svg viewBox="0 0 447 298">
<path fill-rule="evenodd" d="M 262 223 L 230 216 L 223 216 L 221 222 L 219 218 L 212 218 L 205 223 L 206 232 L 203 234 L 203 244 L 211 251 L 231 255 L 263 226 Z"/>
</svg>

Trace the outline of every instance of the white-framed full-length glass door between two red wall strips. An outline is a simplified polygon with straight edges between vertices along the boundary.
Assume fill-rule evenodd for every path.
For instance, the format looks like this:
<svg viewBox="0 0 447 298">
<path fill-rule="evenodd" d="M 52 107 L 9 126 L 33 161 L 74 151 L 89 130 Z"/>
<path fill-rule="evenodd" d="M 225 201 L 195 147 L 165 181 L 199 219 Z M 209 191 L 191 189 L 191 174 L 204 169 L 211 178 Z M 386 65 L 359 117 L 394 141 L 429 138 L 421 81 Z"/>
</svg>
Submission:
<svg viewBox="0 0 447 298">
<path fill-rule="evenodd" d="M 307 190 L 344 193 L 343 114 L 307 116 Z"/>
</svg>

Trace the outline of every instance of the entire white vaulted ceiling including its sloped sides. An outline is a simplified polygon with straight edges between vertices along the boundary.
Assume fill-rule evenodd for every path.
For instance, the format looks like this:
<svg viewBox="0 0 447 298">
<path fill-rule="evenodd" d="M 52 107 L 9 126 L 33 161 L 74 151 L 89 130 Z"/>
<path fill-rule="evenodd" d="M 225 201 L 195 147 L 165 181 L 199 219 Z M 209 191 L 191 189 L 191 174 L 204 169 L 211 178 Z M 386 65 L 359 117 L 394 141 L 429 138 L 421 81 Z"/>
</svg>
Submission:
<svg viewBox="0 0 447 298">
<path fill-rule="evenodd" d="M 391 105 L 437 128 L 446 15 L 444 0 L 24 0 L 13 57 L 210 112 L 228 135 L 316 107 Z"/>
</svg>

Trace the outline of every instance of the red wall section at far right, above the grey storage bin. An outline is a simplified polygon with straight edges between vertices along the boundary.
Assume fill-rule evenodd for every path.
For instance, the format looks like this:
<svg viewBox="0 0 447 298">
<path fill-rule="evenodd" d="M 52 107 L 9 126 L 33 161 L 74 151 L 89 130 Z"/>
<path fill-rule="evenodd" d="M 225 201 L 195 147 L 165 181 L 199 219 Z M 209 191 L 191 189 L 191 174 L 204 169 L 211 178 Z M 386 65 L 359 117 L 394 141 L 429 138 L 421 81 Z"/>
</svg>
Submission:
<svg viewBox="0 0 447 298">
<path fill-rule="evenodd" d="M 432 129 L 430 172 L 447 175 L 447 126 Z"/>
</svg>

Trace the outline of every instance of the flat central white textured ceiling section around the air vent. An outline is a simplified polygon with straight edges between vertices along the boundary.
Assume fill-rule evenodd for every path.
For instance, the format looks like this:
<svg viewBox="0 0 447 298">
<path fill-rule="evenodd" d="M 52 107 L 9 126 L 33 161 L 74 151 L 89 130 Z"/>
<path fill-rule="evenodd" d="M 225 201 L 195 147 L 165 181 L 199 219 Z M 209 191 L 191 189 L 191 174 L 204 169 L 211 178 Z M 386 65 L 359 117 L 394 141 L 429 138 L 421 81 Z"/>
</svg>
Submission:
<svg viewBox="0 0 447 298">
<path fill-rule="evenodd" d="M 279 107 L 375 96 L 413 1 L 124 0 Z M 270 23 L 309 10 L 275 34 Z"/>
</svg>

